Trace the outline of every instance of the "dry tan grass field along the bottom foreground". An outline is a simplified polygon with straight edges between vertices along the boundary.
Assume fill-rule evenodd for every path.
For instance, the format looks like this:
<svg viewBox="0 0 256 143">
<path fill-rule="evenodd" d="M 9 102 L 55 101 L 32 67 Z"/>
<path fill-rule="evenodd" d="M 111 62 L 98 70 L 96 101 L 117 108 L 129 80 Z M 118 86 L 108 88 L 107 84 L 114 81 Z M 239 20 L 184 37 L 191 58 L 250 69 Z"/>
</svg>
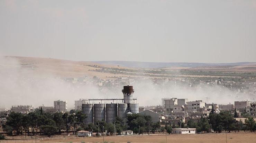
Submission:
<svg viewBox="0 0 256 143">
<path fill-rule="evenodd" d="M 131 135 L 131 136 L 107 136 L 104 140 L 109 143 L 166 143 L 165 134 L 159 135 Z M 8 140 L 1 143 L 35 143 L 35 140 Z M 60 137 L 55 136 L 37 143 L 81 143 L 103 142 L 103 137 Z M 227 133 L 228 143 L 256 143 L 256 132 Z M 177 134 L 167 135 L 167 143 L 226 143 L 226 134 Z"/>
</svg>

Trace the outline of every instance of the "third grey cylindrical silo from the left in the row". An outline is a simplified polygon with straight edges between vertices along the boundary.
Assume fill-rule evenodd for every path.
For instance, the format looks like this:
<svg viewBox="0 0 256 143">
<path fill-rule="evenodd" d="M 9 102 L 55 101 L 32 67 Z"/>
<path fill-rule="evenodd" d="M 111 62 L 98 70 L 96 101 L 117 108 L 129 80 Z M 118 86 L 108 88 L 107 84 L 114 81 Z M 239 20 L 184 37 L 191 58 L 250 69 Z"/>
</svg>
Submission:
<svg viewBox="0 0 256 143">
<path fill-rule="evenodd" d="M 106 104 L 106 122 L 113 123 L 117 117 L 117 104 Z"/>
</svg>

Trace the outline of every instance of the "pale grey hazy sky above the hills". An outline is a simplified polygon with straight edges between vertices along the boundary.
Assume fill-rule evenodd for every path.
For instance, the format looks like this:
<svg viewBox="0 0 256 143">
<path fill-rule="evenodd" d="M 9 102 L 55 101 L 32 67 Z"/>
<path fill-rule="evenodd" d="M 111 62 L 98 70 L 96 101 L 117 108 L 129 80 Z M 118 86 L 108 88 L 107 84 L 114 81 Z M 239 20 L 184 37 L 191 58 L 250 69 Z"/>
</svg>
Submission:
<svg viewBox="0 0 256 143">
<path fill-rule="evenodd" d="M 256 0 L 0 0 L 0 53 L 256 62 Z"/>
</svg>

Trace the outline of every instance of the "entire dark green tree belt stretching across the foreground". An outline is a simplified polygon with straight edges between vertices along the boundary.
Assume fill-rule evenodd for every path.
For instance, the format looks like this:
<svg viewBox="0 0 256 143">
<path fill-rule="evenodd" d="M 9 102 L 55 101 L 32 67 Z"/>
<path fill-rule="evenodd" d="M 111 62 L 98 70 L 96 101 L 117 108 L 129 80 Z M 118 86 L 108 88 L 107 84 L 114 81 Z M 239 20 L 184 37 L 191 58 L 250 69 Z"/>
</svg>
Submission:
<svg viewBox="0 0 256 143">
<path fill-rule="evenodd" d="M 91 132 L 105 132 L 110 135 L 114 133 L 121 134 L 123 130 L 132 130 L 134 133 L 143 134 L 164 132 L 171 133 L 173 128 L 196 128 L 197 133 L 222 131 L 256 131 L 256 122 L 252 117 L 243 121 L 236 121 L 234 117 L 237 113 L 232 114 L 230 111 L 221 111 L 216 113 L 214 109 L 211 110 L 209 117 L 201 118 L 198 122 L 189 119 L 185 125 L 182 120 L 175 125 L 171 122 L 165 122 L 165 126 L 161 126 L 160 122 L 154 123 L 150 116 L 143 116 L 140 114 L 129 114 L 126 119 L 116 117 L 113 123 L 106 123 L 105 121 L 95 122 L 95 124 L 84 124 L 86 115 L 82 111 L 71 110 L 69 113 L 46 113 L 42 109 L 36 109 L 34 112 L 22 114 L 18 112 L 11 112 L 7 117 L 7 122 L 3 125 L 3 131 L 8 135 L 55 135 L 61 134 L 65 131 L 69 132 L 87 130 Z"/>
</svg>

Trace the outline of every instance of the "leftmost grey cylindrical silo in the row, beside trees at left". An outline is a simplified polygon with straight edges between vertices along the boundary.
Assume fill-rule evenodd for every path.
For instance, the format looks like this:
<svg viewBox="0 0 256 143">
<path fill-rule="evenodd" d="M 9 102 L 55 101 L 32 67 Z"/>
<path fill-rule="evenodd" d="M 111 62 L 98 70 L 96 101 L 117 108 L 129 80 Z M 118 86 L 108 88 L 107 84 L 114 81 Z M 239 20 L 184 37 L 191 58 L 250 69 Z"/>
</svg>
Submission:
<svg viewBox="0 0 256 143">
<path fill-rule="evenodd" d="M 93 104 L 82 104 L 82 112 L 86 114 L 85 124 L 93 123 Z"/>
</svg>

